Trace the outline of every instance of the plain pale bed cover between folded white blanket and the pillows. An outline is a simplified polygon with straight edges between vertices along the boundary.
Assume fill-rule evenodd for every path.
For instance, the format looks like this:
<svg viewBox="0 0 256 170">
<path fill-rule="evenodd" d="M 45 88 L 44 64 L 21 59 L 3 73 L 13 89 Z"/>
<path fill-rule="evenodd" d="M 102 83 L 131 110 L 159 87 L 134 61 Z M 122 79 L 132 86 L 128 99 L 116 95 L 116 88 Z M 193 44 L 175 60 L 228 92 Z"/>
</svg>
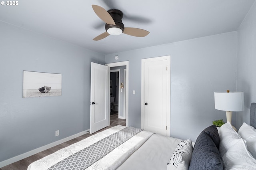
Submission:
<svg viewBox="0 0 256 170">
<path fill-rule="evenodd" d="M 166 170 L 167 162 L 181 139 L 153 134 L 117 170 Z"/>
</svg>

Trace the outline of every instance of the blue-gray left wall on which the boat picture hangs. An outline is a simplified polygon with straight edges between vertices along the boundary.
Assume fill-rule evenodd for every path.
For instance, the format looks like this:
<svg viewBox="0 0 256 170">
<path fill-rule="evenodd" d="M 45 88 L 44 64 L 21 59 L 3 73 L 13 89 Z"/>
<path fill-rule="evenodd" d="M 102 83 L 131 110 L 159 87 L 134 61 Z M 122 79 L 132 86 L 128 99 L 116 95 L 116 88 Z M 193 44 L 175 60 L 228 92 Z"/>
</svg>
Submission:
<svg viewBox="0 0 256 170">
<path fill-rule="evenodd" d="M 105 55 L 3 22 L 0 37 L 0 162 L 89 129 L 90 63 Z M 61 73 L 62 96 L 22 98 L 23 70 Z"/>
</svg>

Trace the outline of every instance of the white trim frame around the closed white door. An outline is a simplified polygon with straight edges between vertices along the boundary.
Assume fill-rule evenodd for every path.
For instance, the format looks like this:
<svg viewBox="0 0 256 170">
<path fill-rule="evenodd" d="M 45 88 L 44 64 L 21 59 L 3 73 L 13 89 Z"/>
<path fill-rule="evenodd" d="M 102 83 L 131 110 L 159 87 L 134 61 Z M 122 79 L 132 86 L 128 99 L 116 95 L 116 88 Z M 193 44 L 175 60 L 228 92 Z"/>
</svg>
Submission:
<svg viewBox="0 0 256 170">
<path fill-rule="evenodd" d="M 141 128 L 144 129 L 144 63 L 146 61 L 158 61 L 158 60 L 167 60 L 167 136 L 170 136 L 170 97 L 171 97 L 171 56 L 166 55 L 162 57 L 153 57 L 141 60 Z"/>
</svg>

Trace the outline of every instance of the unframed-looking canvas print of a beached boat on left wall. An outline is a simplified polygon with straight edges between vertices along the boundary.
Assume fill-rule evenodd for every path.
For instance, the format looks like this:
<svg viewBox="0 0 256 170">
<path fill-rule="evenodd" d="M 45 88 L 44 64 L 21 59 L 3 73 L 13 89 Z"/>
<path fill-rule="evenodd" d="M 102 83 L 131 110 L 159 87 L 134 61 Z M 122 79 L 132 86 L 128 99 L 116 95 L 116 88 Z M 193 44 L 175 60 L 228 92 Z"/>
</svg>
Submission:
<svg viewBox="0 0 256 170">
<path fill-rule="evenodd" d="M 62 75 L 23 71 L 23 97 L 62 95 Z"/>
</svg>

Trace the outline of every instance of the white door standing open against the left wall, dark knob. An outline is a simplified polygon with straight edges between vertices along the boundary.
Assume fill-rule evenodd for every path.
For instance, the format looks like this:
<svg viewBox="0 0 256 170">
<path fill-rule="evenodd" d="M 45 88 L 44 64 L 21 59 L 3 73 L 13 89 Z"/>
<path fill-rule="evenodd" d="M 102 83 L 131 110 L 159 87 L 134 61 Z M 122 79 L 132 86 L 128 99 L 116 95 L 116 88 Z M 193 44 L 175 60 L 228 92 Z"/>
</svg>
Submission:
<svg viewBox="0 0 256 170">
<path fill-rule="evenodd" d="M 91 63 L 91 134 L 108 126 L 108 84 L 108 66 Z"/>
</svg>

